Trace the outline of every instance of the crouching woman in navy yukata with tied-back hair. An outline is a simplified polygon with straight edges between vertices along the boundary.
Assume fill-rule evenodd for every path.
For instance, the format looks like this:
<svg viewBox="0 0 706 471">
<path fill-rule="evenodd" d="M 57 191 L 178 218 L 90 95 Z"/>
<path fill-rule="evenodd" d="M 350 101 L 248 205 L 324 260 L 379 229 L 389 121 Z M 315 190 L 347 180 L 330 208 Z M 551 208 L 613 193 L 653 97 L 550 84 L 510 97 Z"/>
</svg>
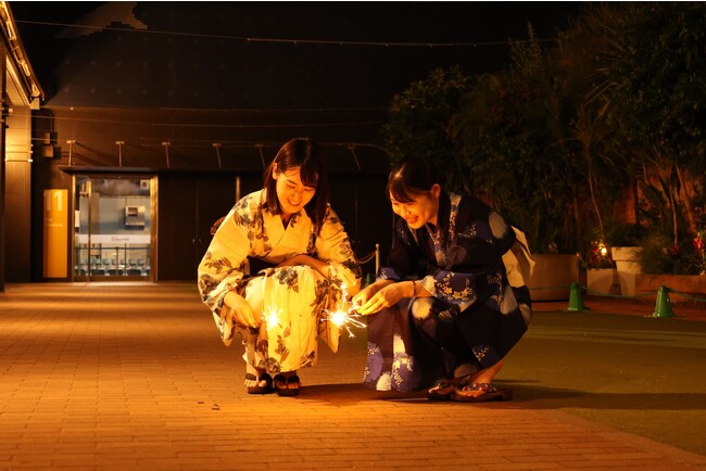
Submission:
<svg viewBox="0 0 706 471">
<path fill-rule="evenodd" d="M 365 385 L 510 399 L 492 381 L 531 315 L 514 255 L 531 264 L 524 234 L 479 199 L 445 192 L 421 158 L 398 164 L 387 193 L 400 216 L 388 264 L 353 297 L 370 316 Z"/>
</svg>

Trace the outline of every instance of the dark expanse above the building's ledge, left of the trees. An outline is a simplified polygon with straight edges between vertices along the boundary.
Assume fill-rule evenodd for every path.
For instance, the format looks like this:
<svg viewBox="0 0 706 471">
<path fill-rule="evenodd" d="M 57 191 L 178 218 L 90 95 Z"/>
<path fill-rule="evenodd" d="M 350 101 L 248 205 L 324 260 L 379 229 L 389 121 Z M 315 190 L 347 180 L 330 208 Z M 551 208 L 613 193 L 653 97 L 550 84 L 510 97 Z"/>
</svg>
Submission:
<svg viewBox="0 0 706 471">
<path fill-rule="evenodd" d="M 384 107 L 438 67 L 497 71 L 528 23 L 555 38 L 581 3 L 10 7 L 50 105 L 301 110 Z"/>
</svg>

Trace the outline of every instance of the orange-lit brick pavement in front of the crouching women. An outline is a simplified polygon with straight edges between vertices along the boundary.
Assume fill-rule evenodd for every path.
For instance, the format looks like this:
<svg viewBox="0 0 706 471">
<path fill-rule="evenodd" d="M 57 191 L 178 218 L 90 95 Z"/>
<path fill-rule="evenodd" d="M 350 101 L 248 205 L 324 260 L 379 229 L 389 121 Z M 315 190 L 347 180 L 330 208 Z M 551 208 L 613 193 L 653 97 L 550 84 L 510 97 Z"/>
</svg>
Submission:
<svg viewBox="0 0 706 471">
<path fill-rule="evenodd" d="M 0 469 L 706 470 L 531 402 L 364 390 L 364 331 L 299 397 L 249 396 L 191 284 L 9 285 L 0 332 Z"/>
</svg>

